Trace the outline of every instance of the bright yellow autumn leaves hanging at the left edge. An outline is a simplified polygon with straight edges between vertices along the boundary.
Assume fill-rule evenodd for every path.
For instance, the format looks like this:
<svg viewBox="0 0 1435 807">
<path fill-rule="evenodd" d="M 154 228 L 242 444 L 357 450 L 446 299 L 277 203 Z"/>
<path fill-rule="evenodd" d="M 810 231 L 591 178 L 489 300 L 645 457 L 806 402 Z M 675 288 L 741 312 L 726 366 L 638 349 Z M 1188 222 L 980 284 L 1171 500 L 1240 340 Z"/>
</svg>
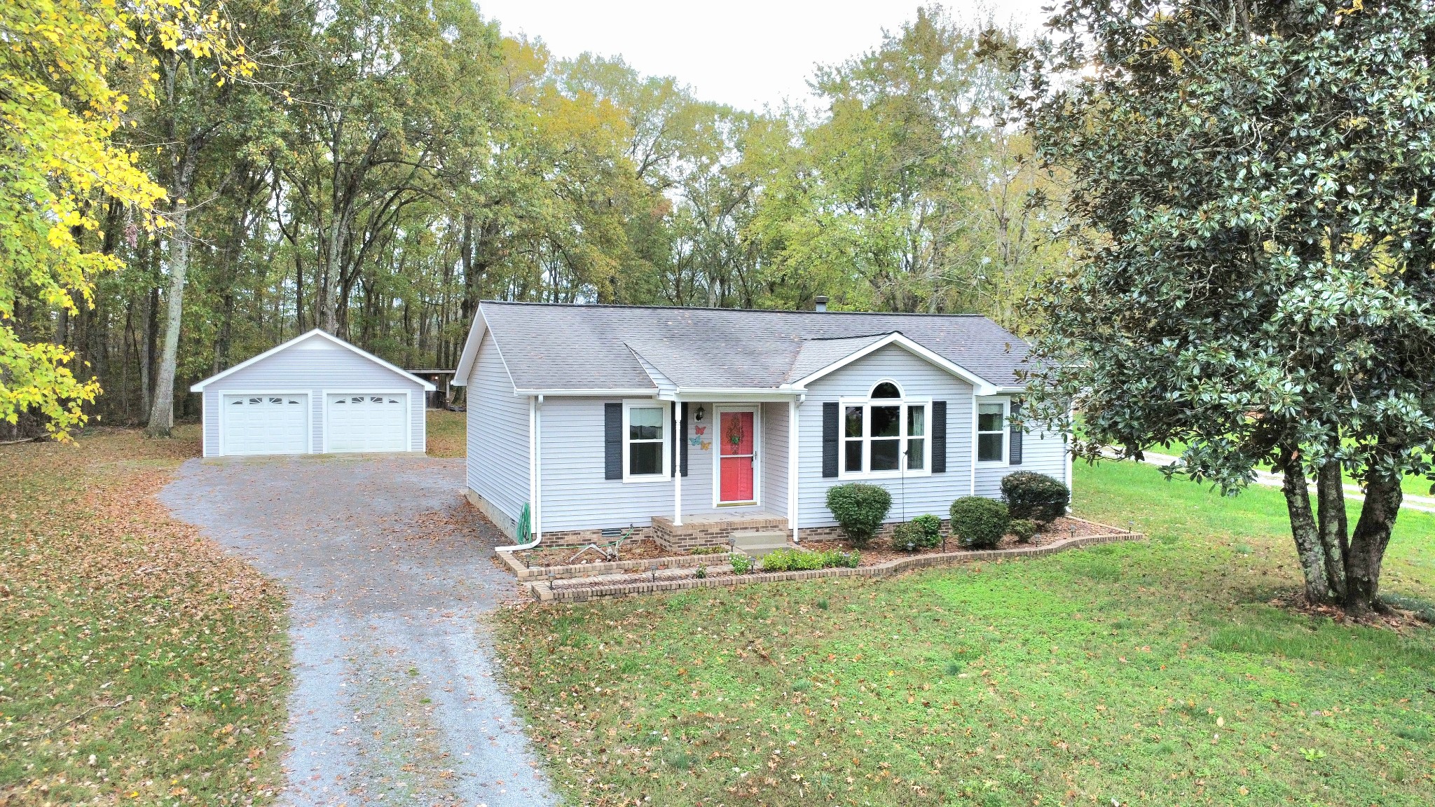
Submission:
<svg viewBox="0 0 1435 807">
<path fill-rule="evenodd" d="M 154 73 L 132 67 L 145 67 L 156 47 L 215 59 L 228 78 L 253 69 L 218 4 L 0 4 L 0 419 L 39 411 L 63 438 L 85 422 L 82 402 L 99 392 L 93 378 L 75 375 L 70 350 L 16 330 L 16 307 L 90 304 L 92 279 L 118 263 L 85 238 L 98 231 L 98 201 L 126 205 L 135 227 L 161 225 L 155 204 L 164 190 L 110 141 L 131 93 L 152 95 Z"/>
</svg>

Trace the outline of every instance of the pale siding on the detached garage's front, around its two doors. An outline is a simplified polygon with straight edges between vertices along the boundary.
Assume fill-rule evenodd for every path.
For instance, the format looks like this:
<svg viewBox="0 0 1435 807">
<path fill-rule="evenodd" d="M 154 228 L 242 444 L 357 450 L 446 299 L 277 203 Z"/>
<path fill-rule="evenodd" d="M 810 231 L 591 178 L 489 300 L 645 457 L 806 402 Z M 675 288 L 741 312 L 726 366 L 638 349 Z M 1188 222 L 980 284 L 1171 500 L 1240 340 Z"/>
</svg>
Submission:
<svg viewBox="0 0 1435 807">
<path fill-rule="evenodd" d="M 220 409 L 224 395 L 260 391 L 306 392 L 309 426 L 313 432 L 311 451 L 324 452 L 326 392 L 360 389 L 406 391 L 413 398 L 413 405 L 408 408 L 410 447 L 412 451 L 425 451 L 423 386 L 329 339 L 311 336 L 204 388 L 201 393 L 205 412 L 204 455 L 221 454 L 222 415 L 212 415 Z"/>
</svg>

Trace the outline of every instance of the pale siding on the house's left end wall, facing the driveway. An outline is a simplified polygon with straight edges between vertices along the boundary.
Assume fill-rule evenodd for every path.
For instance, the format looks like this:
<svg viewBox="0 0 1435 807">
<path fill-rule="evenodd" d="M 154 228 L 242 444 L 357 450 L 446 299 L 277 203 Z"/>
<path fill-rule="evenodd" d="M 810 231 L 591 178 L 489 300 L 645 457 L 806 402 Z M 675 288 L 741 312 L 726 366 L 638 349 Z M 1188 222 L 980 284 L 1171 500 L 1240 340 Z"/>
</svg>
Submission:
<svg viewBox="0 0 1435 807">
<path fill-rule="evenodd" d="M 528 398 L 514 395 L 489 335 L 478 346 L 468 379 L 466 421 L 468 487 L 517 523 L 528 503 Z M 552 527 L 545 523 L 544 528 Z"/>
</svg>

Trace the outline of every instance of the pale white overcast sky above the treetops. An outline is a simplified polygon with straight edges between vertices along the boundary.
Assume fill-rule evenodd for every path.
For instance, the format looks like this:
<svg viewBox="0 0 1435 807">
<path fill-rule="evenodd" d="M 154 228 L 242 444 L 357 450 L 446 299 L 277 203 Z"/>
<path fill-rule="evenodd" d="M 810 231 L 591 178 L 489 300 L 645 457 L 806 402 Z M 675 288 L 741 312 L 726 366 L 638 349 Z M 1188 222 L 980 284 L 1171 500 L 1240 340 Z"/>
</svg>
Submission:
<svg viewBox="0 0 1435 807">
<path fill-rule="evenodd" d="M 999 22 L 1040 27 L 1052 0 L 951 0 L 959 19 L 992 9 Z M 842 62 L 917 16 L 916 0 L 478 0 L 504 33 L 542 39 L 558 57 L 621 55 L 646 75 L 676 76 L 697 98 L 759 111 L 804 102 L 814 65 Z"/>
</svg>

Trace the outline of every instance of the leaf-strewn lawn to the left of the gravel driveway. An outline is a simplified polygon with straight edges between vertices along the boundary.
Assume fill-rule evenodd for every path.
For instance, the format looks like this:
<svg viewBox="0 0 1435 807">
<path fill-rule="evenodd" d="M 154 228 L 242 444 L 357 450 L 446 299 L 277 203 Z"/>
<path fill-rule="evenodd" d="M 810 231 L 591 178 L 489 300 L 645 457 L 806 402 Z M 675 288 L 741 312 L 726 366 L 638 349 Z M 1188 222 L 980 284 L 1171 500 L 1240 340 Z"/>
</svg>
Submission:
<svg viewBox="0 0 1435 807">
<path fill-rule="evenodd" d="M 277 791 L 284 603 L 152 498 L 198 454 L 177 431 L 0 448 L 0 804 Z"/>
</svg>

